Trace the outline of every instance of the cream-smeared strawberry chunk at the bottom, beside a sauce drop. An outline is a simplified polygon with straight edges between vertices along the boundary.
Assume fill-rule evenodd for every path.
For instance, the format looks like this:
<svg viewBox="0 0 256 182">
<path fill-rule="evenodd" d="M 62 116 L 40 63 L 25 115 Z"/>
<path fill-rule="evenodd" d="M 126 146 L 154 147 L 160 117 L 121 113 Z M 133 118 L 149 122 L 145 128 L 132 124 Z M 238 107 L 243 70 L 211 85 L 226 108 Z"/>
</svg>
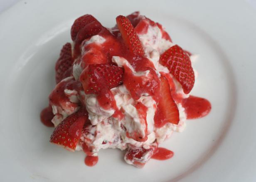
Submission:
<svg viewBox="0 0 256 182">
<path fill-rule="evenodd" d="M 126 160 L 128 164 L 134 165 L 137 168 L 143 168 L 145 163 L 147 163 L 151 156 L 153 156 L 157 147 L 158 144 L 156 142 L 151 144 L 149 149 L 129 144 L 124 160 Z"/>
</svg>

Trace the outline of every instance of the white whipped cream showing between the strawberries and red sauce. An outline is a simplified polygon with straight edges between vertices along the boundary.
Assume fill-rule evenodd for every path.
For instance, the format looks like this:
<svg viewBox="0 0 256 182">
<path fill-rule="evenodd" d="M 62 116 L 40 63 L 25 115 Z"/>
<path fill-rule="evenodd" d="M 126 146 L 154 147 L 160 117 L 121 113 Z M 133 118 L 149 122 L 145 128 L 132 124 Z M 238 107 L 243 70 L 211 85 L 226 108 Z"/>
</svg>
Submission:
<svg viewBox="0 0 256 182">
<path fill-rule="evenodd" d="M 175 44 L 162 38 L 162 32 L 158 26 L 149 25 L 148 31 L 145 34 L 138 34 L 138 37 L 143 45 L 145 56 L 151 62 L 153 62 L 157 74 L 160 76 L 160 72 L 170 73 L 167 67 L 164 67 L 159 63 L 159 57 L 163 52 L 165 52 L 165 50 Z M 105 38 L 96 35 L 85 40 L 82 45 L 89 45 L 92 43 L 101 45 L 105 41 Z M 85 52 L 83 47 L 84 46 L 82 46 L 82 51 L 84 51 L 84 54 L 88 53 L 88 51 Z M 190 58 L 192 62 L 194 62 L 197 56 L 192 55 Z M 136 72 L 130 63 L 123 57 L 113 56 L 112 61 L 115 62 L 119 67 L 126 66 L 135 76 L 147 77 L 149 74 L 149 70 L 144 72 Z M 76 63 L 73 65 L 73 76 L 76 80 L 79 80 L 82 70 L 81 62 L 76 61 Z M 185 94 L 183 92 L 182 86 L 174 77 L 172 77 L 172 79 L 174 81 L 177 93 L 181 93 L 183 98 L 187 98 L 189 94 Z M 80 93 L 77 94 L 75 91 L 67 89 L 65 90 L 65 94 L 69 97 L 70 102 L 77 103 L 80 100 L 84 103 L 84 105 L 86 105 L 86 109 L 89 113 L 89 120 L 91 122 L 91 125 L 86 128 L 86 133 L 82 134 L 76 150 L 81 150 L 81 145 L 84 143 L 92 148 L 94 156 L 97 155 L 100 149 L 119 148 L 124 150 L 128 147 L 128 145 L 148 149 L 150 148 L 150 145 L 155 142 L 155 140 L 157 140 L 158 143 L 161 143 L 170 137 L 172 132 L 182 132 L 186 126 L 185 109 L 180 103 L 177 104 L 180 114 L 179 124 L 174 125 L 172 123 L 167 123 L 161 128 L 156 128 L 154 127 L 154 116 L 157 106 L 152 96 L 148 96 L 145 93 L 137 101 L 135 101 L 124 85 L 111 89 L 111 92 L 114 95 L 117 108 L 123 110 L 124 117 L 121 121 L 113 117 L 115 110 L 105 110 L 99 105 L 96 95 L 85 94 L 84 91 L 80 91 Z M 138 111 L 135 108 L 137 103 L 142 103 L 148 108 L 146 117 L 147 126 L 140 122 Z M 68 115 L 74 113 L 74 110 L 67 112 L 66 110 L 60 110 L 55 105 L 52 105 L 52 109 L 54 114 L 56 114 L 52 120 L 55 126 L 57 126 Z M 78 108 L 76 108 L 76 110 L 77 109 Z M 123 127 L 125 127 L 126 130 L 124 130 Z M 145 127 L 147 127 L 147 129 L 145 129 Z M 147 135 L 147 140 L 139 142 L 127 137 L 127 132 L 134 131 L 142 134 L 143 136 Z M 145 131 L 147 131 L 147 133 L 145 133 Z M 148 158 L 150 158 L 149 154 L 148 156 L 145 154 L 143 157 L 143 161 L 147 161 Z M 126 162 L 132 163 L 129 160 L 126 160 Z"/>
</svg>

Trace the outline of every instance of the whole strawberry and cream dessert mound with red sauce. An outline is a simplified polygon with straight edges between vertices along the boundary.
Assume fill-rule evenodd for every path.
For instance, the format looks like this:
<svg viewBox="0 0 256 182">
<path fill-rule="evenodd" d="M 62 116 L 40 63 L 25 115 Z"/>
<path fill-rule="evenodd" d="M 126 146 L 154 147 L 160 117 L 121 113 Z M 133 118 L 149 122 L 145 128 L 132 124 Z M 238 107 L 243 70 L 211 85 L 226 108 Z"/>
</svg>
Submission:
<svg viewBox="0 0 256 182">
<path fill-rule="evenodd" d="M 209 101 L 190 96 L 195 56 L 139 12 L 116 17 L 111 29 L 86 14 L 75 20 L 71 39 L 41 120 L 55 127 L 50 142 L 84 151 L 86 165 L 105 148 L 126 150 L 124 160 L 138 168 L 171 158 L 158 145 L 211 110 Z"/>
</svg>

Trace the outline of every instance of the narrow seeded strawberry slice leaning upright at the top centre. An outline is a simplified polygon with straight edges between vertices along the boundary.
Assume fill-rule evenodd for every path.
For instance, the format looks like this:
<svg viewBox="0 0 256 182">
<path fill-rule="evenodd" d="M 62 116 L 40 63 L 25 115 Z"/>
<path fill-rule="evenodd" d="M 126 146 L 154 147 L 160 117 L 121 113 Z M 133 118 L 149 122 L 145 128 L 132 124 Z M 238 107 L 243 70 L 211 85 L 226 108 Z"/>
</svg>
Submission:
<svg viewBox="0 0 256 182">
<path fill-rule="evenodd" d="M 142 44 L 130 20 L 122 15 L 116 17 L 116 24 L 127 48 L 135 55 L 144 55 Z"/>
</svg>

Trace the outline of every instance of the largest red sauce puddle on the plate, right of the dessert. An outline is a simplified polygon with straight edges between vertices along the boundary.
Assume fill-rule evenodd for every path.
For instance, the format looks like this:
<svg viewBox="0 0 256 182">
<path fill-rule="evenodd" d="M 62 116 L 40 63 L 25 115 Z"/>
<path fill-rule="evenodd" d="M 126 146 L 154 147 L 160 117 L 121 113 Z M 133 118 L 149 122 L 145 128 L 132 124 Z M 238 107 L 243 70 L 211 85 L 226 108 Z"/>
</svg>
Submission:
<svg viewBox="0 0 256 182">
<path fill-rule="evenodd" d="M 182 106 L 187 113 L 187 119 L 204 117 L 212 109 L 212 105 L 207 99 L 196 96 L 183 99 Z"/>
</svg>

